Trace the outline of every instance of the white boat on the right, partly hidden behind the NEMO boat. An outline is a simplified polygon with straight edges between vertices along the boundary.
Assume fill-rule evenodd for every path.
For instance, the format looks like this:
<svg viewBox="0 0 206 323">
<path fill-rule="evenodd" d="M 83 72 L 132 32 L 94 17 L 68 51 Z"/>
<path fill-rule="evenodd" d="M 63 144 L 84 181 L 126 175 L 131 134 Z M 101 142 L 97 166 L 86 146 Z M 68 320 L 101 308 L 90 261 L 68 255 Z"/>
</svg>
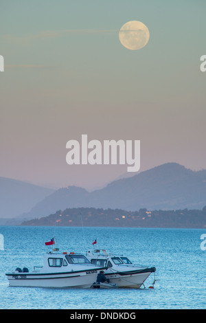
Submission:
<svg viewBox="0 0 206 323">
<path fill-rule="evenodd" d="M 108 254 L 104 249 L 88 251 L 87 258 L 93 265 L 106 267 L 104 275 L 110 280 L 111 284 L 115 284 L 117 287 L 139 289 L 141 285 L 144 285 L 148 276 L 156 271 L 155 267 L 134 265 L 128 257 L 114 256 Z M 153 284 L 155 284 L 155 280 Z"/>
</svg>

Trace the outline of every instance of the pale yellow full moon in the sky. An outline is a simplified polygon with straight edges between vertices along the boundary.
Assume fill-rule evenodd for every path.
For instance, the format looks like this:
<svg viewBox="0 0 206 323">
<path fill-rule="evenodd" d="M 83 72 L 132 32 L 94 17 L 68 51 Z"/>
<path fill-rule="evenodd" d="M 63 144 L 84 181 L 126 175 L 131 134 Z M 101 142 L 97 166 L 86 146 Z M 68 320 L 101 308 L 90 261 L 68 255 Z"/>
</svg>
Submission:
<svg viewBox="0 0 206 323">
<path fill-rule="evenodd" d="M 119 30 L 119 41 L 127 49 L 141 49 L 147 45 L 149 39 L 148 27 L 140 21 L 128 21 Z"/>
</svg>

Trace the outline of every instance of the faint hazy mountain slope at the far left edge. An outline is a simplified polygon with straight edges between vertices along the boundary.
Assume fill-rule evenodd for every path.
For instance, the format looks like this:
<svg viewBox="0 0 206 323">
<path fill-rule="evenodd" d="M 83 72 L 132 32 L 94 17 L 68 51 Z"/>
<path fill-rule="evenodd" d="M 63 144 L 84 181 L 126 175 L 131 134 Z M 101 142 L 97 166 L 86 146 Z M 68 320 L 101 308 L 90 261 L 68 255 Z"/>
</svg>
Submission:
<svg viewBox="0 0 206 323">
<path fill-rule="evenodd" d="M 29 212 L 54 190 L 24 181 L 0 177 L 0 218 L 13 218 Z"/>
</svg>

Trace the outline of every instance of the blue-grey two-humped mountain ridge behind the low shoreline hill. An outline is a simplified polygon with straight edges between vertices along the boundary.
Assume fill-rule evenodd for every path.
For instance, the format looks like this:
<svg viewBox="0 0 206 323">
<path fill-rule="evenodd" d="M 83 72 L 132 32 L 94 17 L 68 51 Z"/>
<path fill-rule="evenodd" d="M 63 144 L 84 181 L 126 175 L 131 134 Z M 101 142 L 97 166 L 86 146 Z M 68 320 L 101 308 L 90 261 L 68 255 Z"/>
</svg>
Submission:
<svg viewBox="0 0 206 323">
<path fill-rule="evenodd" d="M 61 188 L 37 203 L 27 217 L 47 216 L 66 208 L 111 208 L 135 211 L 198 209 L 206 204 L 206 170 L 194 172 L 176 163 L 109 183 L 87 192 L 83 188 Z"/>
</svg>

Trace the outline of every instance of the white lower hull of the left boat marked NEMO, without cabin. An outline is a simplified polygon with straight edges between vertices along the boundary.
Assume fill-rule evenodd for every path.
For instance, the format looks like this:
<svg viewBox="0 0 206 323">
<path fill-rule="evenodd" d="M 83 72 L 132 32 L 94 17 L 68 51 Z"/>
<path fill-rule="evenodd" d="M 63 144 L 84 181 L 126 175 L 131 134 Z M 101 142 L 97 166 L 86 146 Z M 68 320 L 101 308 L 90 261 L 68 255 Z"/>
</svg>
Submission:
<svg viewBox="0 0 206 323">
<path fill-rule="evenodd" d="M 12 273 L 6 275 L 8 276 L 9 285 L 16 287 L 90 288 L 99 272 L 100 269 L 56 274 Z"/>
</svg>

